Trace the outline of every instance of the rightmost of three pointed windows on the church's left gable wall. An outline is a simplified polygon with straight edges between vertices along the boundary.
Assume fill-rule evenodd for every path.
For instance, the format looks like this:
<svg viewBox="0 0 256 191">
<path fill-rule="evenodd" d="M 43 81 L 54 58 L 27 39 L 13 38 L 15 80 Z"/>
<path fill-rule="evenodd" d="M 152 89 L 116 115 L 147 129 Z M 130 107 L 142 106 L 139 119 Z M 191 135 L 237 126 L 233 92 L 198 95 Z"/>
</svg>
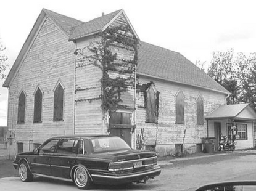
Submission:
<svg viewBox="0 0 256 191">
<path fill-rule="evenodd" d="M 64 98 L 64 89 L 58 84 L 54 91 L 54 121 L 63 120 L 63 98 Z"/>
</svg>

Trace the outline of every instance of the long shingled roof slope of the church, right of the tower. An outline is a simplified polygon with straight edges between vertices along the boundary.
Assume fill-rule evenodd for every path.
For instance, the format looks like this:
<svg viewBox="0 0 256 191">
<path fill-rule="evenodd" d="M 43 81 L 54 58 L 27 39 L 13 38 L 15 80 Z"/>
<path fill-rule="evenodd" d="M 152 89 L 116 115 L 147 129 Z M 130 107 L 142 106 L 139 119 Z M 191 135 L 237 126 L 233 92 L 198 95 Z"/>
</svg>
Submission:
<svg viewBox="0 0 256 191">
<path fill-rule="evenodd" d="M 138 48 L 138 73 L 229 94 L 180 53 L 142 41 Z"/>
</svg>

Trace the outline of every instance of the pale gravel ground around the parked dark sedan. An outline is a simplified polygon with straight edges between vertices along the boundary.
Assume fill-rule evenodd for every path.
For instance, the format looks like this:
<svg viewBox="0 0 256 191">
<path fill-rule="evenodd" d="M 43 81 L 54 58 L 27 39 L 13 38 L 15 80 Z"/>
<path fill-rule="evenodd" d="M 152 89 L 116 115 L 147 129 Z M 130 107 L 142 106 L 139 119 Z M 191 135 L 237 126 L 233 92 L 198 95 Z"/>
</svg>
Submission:
<svg viewBox="0 0 256 191">
<path fill-rule="evenodd" d="M 162 168 L 160 176 L 150 179 L 147 184 L 131 184 L 127 187 L 96 185 L 94 189 L 192 191 L 200 185 L 213 182 L 250 180 L 256 177 L 255 150 L 166 159 L 168 160 L 159 161 Z M 17 170 L 12 166 L 12 161 L 0 160 L 0 178 L 9 176 L 18 176 Z M 51 183 L 52 181 L 38 179 L 38 182 L 46 182 L 47 184 L 47 182 Z M 55 184 L 59 183 L 56 182 Z"/>
</svg>

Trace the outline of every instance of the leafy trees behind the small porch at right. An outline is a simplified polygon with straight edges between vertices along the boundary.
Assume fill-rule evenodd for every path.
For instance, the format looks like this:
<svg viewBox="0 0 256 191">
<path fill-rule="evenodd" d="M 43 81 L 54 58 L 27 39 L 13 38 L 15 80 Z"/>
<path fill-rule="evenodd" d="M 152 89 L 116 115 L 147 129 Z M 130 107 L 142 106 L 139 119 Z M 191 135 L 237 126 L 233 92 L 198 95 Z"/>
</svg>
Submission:
<svg viewBox="0 0 256 191">
<path fill-rule="evenodd" d="M 249 103 L 256 110 L 256 53 L 249 55 L 233 49 L 226 52 L 213 52 L 209 76 L 225 87 L 231 95 L 227 104 Z"/>
</svg>

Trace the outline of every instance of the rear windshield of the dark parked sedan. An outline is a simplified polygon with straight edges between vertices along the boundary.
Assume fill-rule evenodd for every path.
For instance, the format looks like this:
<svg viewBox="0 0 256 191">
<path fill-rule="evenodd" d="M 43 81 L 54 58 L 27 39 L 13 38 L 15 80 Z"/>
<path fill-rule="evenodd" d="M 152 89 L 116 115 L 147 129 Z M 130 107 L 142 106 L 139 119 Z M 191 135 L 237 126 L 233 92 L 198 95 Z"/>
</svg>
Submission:
<svg viewBox="0 0 256 191">
<path fill-rule="evenodd" d="M 131 149 L 129 145 L 119 137 L 96 137 L 91 139 L 91 144 L 93 145 L 93 152 Z"/>
</svg>

